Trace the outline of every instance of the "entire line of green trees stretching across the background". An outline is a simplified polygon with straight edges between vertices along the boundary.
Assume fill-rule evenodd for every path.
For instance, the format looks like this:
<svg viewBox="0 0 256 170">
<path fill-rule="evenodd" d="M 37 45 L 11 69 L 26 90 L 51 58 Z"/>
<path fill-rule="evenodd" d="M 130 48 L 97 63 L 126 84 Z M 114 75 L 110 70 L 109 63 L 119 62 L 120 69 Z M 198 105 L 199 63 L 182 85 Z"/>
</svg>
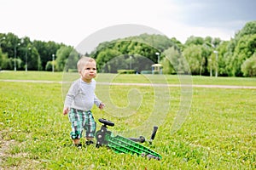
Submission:
<svg viewBox="0 0 256 170">
<path fill-rule="evenodd" d="M 255 49 L 256 21 L 251 21 L 230 41 L 191 36 L 182 43 L 175 37 L 142 34 L 101 42 L 86 55 L 96 59 L 100 72 L 115 73 L 119 69 L 141 72 L 160 63 L 164 74 L 255 77 Z M 63 43 L 31 41 L 29 37 L 0 33 L 2 70 L 73 71 L 82 55 Z"/>
</svg>

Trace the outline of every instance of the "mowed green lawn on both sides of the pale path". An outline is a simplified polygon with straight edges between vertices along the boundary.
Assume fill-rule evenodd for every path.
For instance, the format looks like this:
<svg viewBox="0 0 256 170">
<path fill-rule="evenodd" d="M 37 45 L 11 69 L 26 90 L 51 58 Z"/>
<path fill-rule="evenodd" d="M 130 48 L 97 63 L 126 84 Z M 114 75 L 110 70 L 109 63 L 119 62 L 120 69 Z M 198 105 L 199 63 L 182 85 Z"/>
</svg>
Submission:
<svg viewBox="0 0 256 170">
<path fill-rule="evenodd" d="M 184 92 L 180 87 L 163 86 L 179 84 L 182 77 L 99 74 L 96 94 L 106 108 L 92 110 L 97 130 L 101 127 L 97 120 L 103 117 L 115 123 L 108 128 L 115 135 L 140 134 L 149 139 L 152 126 L 157 125 L 153 144 L 144 143 L 162 156 L 157 161 L 95 145 L 73 148 L 70 123 L 61 111 L 68 82 L 77 76 L 0 72 L 0 169 L 256 168 L 256 88 L 245 88 L 256 87 L 255 78 L 191 77 L 193 85 L 243 88 L 194 87 Z"/>
</svg>

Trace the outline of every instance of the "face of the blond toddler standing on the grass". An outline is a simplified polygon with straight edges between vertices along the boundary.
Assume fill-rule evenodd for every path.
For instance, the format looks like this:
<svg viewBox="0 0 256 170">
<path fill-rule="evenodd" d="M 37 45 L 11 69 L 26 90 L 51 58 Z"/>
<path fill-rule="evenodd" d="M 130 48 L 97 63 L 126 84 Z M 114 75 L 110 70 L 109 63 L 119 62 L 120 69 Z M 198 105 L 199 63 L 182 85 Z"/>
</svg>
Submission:
<svg viewBox="0 0 256 170">
<path fill-rule="evenodd" d="M 88 61 L 85 65 L 83 70 L 80 72 L 80 75 L 84 82 L 90 82 L 92 78 L 96 77 L 96 62 L 95 61 Z"/>
</svg>

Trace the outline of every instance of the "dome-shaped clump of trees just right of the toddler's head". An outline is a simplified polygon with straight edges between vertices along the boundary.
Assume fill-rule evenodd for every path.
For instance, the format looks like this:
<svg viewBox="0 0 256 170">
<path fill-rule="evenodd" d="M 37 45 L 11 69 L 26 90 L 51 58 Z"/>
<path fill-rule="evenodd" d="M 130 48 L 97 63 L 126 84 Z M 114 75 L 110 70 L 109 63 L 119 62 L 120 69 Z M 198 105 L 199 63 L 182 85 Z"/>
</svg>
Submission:
<svg viewBox="0 0 256 170">
<path fill-rule="evenodd" d="M 161 52 L 167 48 L 178 46 L 174 43 L 176 39 L 170 40 L 161 35 L 142 34 L 137 37 L 126 37 L 112 42 L 101 43 L 91 55 L 96 57 L 97 67 L 102 72 L 116 73 L 119 69 L 128 69 L 130 56 L 132 56 L 132 69 L 136 71 L 150 70 L 151 65 L 164 58 Z M 123 58 L 123 62 L 119 62 Z M 146 58 L 146 59 L 143 59 Z M 150 61 L 150 62 L 149 62 Z M 150 64 L 149 64 L 150 63 Z"/>
</svg>

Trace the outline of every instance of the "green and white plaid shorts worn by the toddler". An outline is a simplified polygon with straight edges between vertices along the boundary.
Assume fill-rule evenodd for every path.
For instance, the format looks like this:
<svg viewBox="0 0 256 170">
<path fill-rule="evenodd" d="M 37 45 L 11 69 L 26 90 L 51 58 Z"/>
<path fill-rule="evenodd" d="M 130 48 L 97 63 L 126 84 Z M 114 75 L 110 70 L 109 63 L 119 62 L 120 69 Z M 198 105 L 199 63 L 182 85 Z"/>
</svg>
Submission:
<svg viewBox="0 0 256 170">
<path fill-rule="evenodd" d="M 72 131 L 70 137 L 72 139 L 81 139 L 83 130 L 85 137 L 94 138 L 96 133 L 96 122 L 91 111 L 81 111 L 71 108 L 68 113 L 69 122 L 71 122 Z"/>
</svg>

